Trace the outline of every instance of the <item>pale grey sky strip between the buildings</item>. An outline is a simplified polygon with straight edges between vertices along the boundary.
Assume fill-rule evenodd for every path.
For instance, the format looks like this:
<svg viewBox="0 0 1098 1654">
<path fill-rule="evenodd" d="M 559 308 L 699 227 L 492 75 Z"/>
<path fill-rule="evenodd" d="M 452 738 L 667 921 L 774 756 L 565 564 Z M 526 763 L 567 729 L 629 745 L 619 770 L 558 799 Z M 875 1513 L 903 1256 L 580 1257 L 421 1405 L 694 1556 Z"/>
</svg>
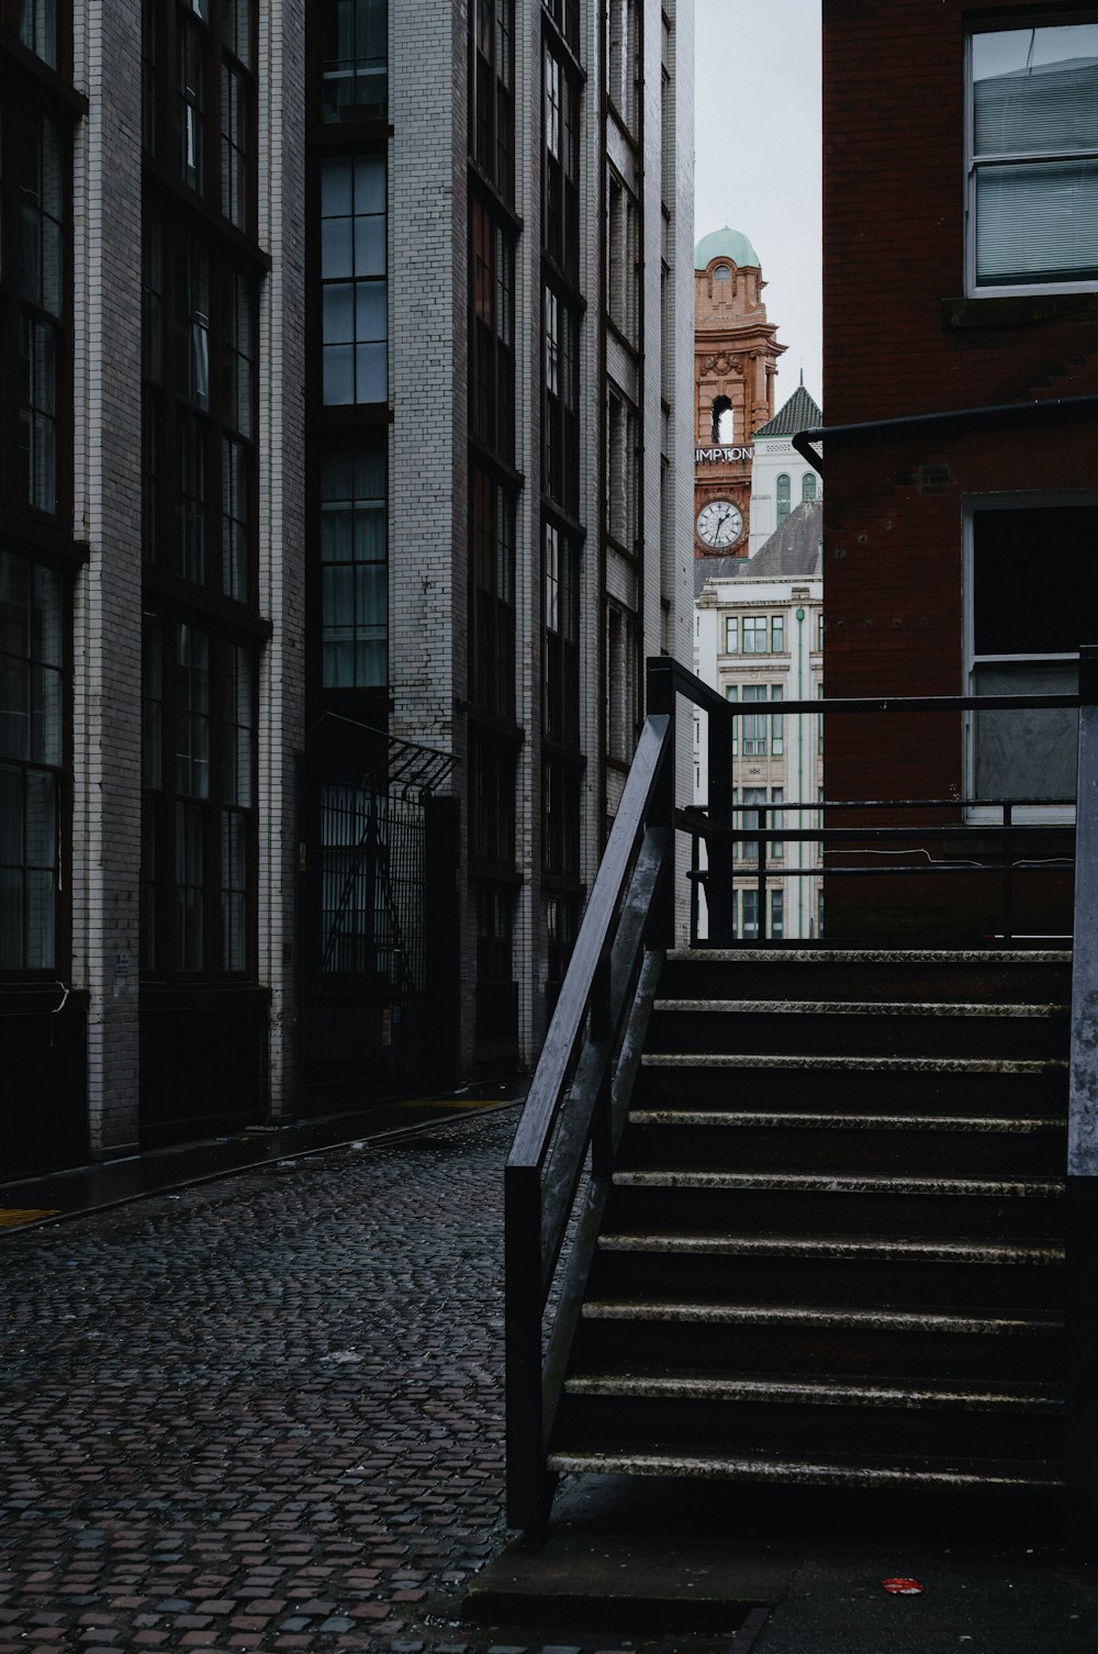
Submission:
<svg viewBox="0 0 1098 1654">
<path fill-rule="evenodd" d="M 776 409 L 822 400 L 820 0 L 696 0 L 695 241 L 751 240 L 777 323 Z"/>
</svg>

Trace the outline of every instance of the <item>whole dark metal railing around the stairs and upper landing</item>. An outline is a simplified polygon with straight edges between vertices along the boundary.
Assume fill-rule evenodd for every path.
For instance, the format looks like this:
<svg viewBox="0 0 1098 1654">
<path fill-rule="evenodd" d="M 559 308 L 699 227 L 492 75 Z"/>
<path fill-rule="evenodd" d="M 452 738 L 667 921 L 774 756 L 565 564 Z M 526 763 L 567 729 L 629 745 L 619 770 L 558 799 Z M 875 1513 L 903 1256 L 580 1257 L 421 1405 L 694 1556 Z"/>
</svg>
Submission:
<svg viewBox="0 0 1098 1654">
<path fill-rule="evenodd" d="M 1093 1262 L 1098 1234 L 1098 647 L 1080 652 L 1080 693 L 1045 696 L 890 696 L 880 700 L 785 701 L 785 716 L 873 716 L 888 713 L 1022 711 L 1032 708 L 1080 710 L 1077 824 L 1017 820 L 1017 801 L 1004 805 L 1002 820 L 966 820 L 962 799 L 842 801 L 820 805 L 782 802 L 746 805 L 756 820 L 744 825 L 744 805 L 733 799 L 733 719 L 742 716 L 699 678 L 668 658 L 648 662 L 648 718 L 599 875 L 592 887 L 580 933 L 561 989 L 552 1024 L 534 1073 L 529 1100 L 506 1168 L 506 1363 L 508 1363 L 508 1520 L 539 1528 L 552 1497 L 547 1444 L 561 1399 L 567 1358 L 579 1323 L 582 1293 L 594 1257 L 599 1224 L 610 1188 L 613 1156 L 640 1065 L 643 1037 L 655 999 L 663 953 L 681 926 L 683 908 L 693 913 L 696 939 L 698 890 L 709 908 L 704 946 L 734 944 L 729 893 L 742 877 L 738 844 L 757 844 L 752 877 L 766 892 L 776 877 L 766 845 L 774 842 L 819 844 L 822 863 L 782 867 L 781 877 L 857 878 L 885 875 L 860 863 L 860 852 L 881 845 L 921 849 L 957 840 L 966 850 L 956 860 L 923 867 L 893 867 L 885 877 L 966 872 L 1002 880 L 1004 920 L 995 939 L 1014 930 L 1014 888 L 1025 857 L 1017 847 L 1048 844 L 1058 867 L 1075 867 L 1072 1017 L 1072 1100 L 1068 1184 L 1075 1189 L 1070 1211 L 1077 1231 L 1086 1232 L 1085 1255 Z M 680 703 L 708 713 L 709 799 L 704 812 L 676 799 L 675 731 Z M 752 708 L 749 708 L 752 710 Z M 981 801 L 987 804 L 989 801 Z M 817 825 L 766 825 L 772 809 L 785 815 L 797 809 L 820 812 Z M 827 825 L 828 812 L 871 817 L 883 809 L 928 815 L 909 825 L 866 825 L 850 820 Z M 690 840 L 690 855 L 678 865 L 690 882 L 690 900 L 676 903 L 671 868 L 676 834 Z M 1063 852 L 1065 837 L 1078 850 Z M 987 853 L 987 844 L 994 853 Z M 703 868 L 696 847 L 704 844 Z M 984 849 L 981 849 L 984 847 Z M 830 862 L 828 862 L 830 857 Z M 840 858 L 842 857 L 842 858 Z M 1078 865 L 1077 865 L 1078 863 Z M 1047 858 L 1042 857 L 1042 865 Z M 690 870 L 686 872 L 686 867 Z M 766 911 L 761 896 L 759 911 Z M 678 920 L 676 920 L 678 913 Z M 1086 944 L 1078 951 L 1080 935 Z M 742 938 L 741 938 L 742 939 Z M 880 946 L 880 939 L 876 946 Z M 1081 969 L 1086 978 L 1083 979 Z M 1072 1193 L 1072 1189 L 1070 1189 Z M 566 1236 L 570 1245 L 566 1249 Z M 1077 1249 L 1078 1250 L 1078 1249 Z M 1083 1320 L 1073 1341 L 1073 1394 L 1085 1401 L 1075 1409 L 1083 1419 L 1068 1431 L 1078 1442 L 1070 1484 L 1091 1508 L 1098 1489 L 1098 1269 L 1088 1265 L 1077 1302 Z M 1072 1416 L 1072 1408 L 1070 1408 Z M 1086 1434 L 1090 1431 L 1090 1434 Z M 1090 1503 L 1088 1503 L 1090 1502 Z"/>
</svg>

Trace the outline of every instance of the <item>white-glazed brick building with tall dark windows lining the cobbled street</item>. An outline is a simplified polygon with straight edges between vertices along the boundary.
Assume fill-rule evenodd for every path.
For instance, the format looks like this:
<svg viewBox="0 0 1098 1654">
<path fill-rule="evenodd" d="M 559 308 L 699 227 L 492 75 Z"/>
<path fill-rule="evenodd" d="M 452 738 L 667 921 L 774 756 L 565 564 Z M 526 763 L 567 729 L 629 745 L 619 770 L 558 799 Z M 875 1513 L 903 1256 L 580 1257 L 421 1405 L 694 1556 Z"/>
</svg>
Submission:
<svg viewBox="0 0 1098 1654">
<path fill-rule="evenodd" d="M 691 73 L 0 5 L 0 1178 L 529 1060 L 690 647 Z"/>
</svg>

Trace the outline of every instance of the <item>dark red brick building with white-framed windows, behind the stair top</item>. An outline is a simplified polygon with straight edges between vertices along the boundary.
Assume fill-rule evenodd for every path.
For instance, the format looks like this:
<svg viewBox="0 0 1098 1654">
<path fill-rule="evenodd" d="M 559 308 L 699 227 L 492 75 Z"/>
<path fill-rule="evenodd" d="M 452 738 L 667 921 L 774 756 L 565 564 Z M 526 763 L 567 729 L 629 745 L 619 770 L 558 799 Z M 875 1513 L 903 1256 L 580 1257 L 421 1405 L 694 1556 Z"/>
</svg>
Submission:
<svg viewBox="0 0 1098 1654">
<path fill-rule="evenodd" d="M 824 0 L 828 698 L 1077 683 L 1098 546 L 1096 88 L 1093 7 Z M 828 799 L 956 801 L 938 822 L 991 827 L 1009 796 L 1015 820 L 1067 825 L 1073 764 L 1068 711 L 827 726 Z M 828 901 L 832 936 L 838 901 L 852 933 L 1000 925 L 987 880 L 921 882 L 918 905 L 901 882 L 852 890 Z M 1030 890 L 1017 928 L 1070 930 L 1063 875 Z"/>
</svg>

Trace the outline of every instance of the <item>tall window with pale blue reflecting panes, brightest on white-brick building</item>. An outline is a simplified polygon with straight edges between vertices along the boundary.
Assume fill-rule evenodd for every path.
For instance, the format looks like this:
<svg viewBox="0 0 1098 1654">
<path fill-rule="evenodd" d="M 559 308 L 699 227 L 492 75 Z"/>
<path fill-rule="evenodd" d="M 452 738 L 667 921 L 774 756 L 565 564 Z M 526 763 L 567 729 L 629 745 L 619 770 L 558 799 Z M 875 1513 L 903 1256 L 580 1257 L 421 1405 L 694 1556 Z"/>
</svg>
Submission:
<svg viewBox="0 0 1098 1654">
<path fill-rule="evenodd" d="M 321 162 L 322 400 L 389 395 L 385 157 Z"/>
</svg>

